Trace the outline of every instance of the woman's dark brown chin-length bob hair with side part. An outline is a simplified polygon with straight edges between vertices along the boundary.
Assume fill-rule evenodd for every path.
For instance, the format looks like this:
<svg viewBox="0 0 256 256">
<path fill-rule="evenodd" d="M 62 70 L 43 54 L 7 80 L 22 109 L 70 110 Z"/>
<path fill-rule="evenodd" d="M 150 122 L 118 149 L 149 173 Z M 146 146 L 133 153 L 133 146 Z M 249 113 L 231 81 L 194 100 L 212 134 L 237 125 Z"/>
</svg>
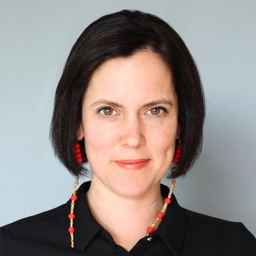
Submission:
<svg viewBox="0 0 256 256">
<path fill-rule="evenodd" d="M 183 145 L 176 172 L 186 174 L 201 153 L 205 103 L 195 61 L 183 40 L 157 16 L 137 10 L 122 10 L 94 21 L 80 35 L 67 58 L 55 92 L 50 138 L 67 170 L 75 176 L 87 174 L 76 162 L 74 143 L 82 119 L 82 104 L 90 78 L 105 61 L 152 50 L 172 73 L 178 98 L 178 122 Z M 84 140 L 79 142 L 87 162 Z"/>
</svg>

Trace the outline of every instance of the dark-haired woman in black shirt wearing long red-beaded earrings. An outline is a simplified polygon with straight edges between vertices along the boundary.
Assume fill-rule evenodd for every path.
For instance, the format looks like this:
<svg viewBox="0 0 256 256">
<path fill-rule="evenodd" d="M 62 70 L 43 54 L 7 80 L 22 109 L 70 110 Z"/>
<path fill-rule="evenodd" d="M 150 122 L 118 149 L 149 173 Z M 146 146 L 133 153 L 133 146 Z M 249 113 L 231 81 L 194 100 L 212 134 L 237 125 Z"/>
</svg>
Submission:
<svg viewBox="0 0 256 256">
<path fill-rule="evenodd" d="M 195 62 L 165 21 L 124 10 L 93 22 L 67 59 L 51 125 L 55 154 L 76 177 L 89 162 L 91 182 L 1 228 L 1 255 L 255 255 L 242 224 L 172 195 L 201 152 L 204 114 Z"/>
</svg>

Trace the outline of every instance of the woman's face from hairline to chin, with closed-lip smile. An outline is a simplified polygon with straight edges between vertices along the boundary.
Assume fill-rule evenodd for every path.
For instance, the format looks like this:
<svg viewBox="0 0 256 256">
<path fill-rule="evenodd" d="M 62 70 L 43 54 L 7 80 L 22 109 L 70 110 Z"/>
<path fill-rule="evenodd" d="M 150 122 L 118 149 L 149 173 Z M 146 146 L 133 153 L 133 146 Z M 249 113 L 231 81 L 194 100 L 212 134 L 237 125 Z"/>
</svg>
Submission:
<svg viewBox="0 0 256 256">
<path fill-rule="evenodd" d="M 82 109 L 78 139 L 92 183 L 125 197 L 158 187 L 179 137 L 177 95 L 160 56 L 147 50 L 105 62 Z"/>
</svg>

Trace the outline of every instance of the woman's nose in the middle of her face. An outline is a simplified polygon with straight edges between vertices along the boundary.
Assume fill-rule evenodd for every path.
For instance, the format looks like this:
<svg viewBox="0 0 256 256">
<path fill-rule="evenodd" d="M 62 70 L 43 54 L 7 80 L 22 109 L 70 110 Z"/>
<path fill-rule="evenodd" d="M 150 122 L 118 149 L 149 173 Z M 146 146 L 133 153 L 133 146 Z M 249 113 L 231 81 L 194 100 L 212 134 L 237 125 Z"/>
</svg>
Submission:
<svg viewBox="0 0 256 256">
<path fill-rule="evenodd" d="M 138 148 L 145 143 L 143 121 L 137 115 L 125 117 L 120 141 L 126 148 Z"/>
</svg>

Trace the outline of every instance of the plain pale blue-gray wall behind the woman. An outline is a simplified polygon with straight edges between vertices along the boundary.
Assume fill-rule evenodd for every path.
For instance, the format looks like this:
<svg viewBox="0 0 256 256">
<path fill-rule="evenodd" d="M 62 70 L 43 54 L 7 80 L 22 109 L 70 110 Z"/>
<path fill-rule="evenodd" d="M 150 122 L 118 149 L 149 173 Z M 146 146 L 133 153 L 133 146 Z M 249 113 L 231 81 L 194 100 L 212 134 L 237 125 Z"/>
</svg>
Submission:
<svg viewBox="0 0 256 256">
<path fill-rule="evenodd" d="M 181 35 L 206 92 L 203 151 L 177 180 L 180 205 L 241 221 L 256 236 L 255 8 L 253 0 L 1 0 L 0 226 L 68 200 L 74 180 L 49 143 L 61 70 L 90 22 L 140 9 Z"/>
</svg>

